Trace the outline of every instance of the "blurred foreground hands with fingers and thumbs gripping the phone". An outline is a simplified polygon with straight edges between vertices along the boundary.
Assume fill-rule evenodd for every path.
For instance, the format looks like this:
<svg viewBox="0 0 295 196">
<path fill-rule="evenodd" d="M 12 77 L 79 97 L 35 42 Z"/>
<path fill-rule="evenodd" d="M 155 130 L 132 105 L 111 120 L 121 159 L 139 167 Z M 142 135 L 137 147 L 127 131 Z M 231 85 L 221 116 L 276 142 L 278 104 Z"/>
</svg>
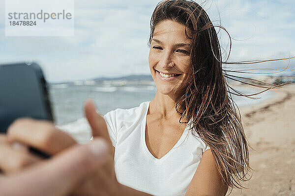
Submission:
<svg viewBox="0 0 295 196">
<path fill-rule="evenodd" d="M 106 122 L 96 112 L 92 100 L 85 103 L 85 115 L 94 144 L 79 145 L 48 121 L 30 118 L 14 121 L 0 142 L 0 170 L 5 173 L 0 176 L 0 193 L 12 196 L 119 193 L 120 184 L 114 168 L 115 148 Z M 50 154 L 52 158 L 44 160 L 31 153 L 28 147 Z"/>
</svg>

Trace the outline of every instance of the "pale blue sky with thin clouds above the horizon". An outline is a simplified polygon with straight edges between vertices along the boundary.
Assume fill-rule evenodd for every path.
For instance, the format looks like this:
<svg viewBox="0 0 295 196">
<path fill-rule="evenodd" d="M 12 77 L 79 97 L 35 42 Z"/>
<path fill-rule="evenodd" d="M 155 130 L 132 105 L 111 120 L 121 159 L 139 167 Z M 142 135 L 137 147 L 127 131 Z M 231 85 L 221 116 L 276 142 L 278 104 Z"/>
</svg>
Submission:
<svg viewBox="0 0 295 196">
<path fill-rule="evenodd" d="M 5 1 L 0 0 L 0 63 L 36 61 L 50 82 L 148 74 L 149 22 L 158 2 L 75 0 L 75 36 L 7 37 Z M 294 0 L 207 0 L 202 5 L 214 24 L 220 14 L 221 25 L 242 40 L 233 40 L 229 61 L 295 56 Z M 229 40 L 223 31 L 220 37 L 226 56 Z M 294 64 L 292 60 L 290 69 Z M 280 61 L 241 68 L 287 65 Z"/>
</svg>

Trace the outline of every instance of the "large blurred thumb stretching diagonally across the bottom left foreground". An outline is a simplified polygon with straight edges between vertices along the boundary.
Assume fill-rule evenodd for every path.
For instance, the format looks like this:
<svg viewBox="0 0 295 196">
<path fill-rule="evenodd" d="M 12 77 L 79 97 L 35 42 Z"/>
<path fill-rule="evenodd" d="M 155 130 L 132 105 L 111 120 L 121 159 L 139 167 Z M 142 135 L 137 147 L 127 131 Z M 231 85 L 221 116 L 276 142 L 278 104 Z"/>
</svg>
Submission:
<svg viewBox="0 0 295 196">
<path fill-rule="evenodd" d="M 103 139 L 67 148 L 49 161 L 10 176 L 8 187 L 13 184 L 18 188 L 8 190 L 7 194 L 66 196 L 111 158 L 109 148 L 109 144 Z"/>
</svg>

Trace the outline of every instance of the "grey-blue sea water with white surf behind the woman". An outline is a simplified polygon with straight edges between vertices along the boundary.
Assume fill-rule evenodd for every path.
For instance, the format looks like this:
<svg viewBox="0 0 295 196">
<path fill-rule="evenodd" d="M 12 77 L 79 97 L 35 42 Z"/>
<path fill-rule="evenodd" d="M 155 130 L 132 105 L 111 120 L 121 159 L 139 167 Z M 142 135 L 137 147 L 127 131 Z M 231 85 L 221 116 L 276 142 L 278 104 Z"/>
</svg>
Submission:
<svg viewBox="0 0 295 196">
<path fill-rule="evenodd" d="M 254 94 L 260 89 L 247 87 L 235 87 L 245 94 Z M 104 83 L 72 83 L 50 85 L 50 98 L 55 117 L 55 123 L 59 128 L 72 134 L 78 141 L 89 140 L 89 126 L 84 118 L 84 102 L 91 98 L 100 114 L 116 108 L 132 108 L 143 101 L 150 101 L 154 98 L 156 87 L 153 82 L 135 82 L 131 85 L 104 84 Z M 259 99 L 241 98 L 233 96 L 239 107 L 256 104 L 271 98 L 272 92 L 265 92 L 256 96 Z"/>
</svg>

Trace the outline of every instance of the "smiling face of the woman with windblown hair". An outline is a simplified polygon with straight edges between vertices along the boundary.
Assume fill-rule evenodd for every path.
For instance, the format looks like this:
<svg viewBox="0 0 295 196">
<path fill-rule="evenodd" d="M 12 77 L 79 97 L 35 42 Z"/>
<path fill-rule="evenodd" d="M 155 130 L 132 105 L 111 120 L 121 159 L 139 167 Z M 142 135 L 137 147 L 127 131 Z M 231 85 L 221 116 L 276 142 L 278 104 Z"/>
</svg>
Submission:
<svg viewBox="0 0 295 196">
<path fill-rule="evenodd" d="M 155 27 L 150 43 L 149 69 L 157 91 L 164 95 L 173 95 L 191 65 L 191 40 L 185 36 L 184 29 L 180 23 L 163 21 Z"/>
</svg>

